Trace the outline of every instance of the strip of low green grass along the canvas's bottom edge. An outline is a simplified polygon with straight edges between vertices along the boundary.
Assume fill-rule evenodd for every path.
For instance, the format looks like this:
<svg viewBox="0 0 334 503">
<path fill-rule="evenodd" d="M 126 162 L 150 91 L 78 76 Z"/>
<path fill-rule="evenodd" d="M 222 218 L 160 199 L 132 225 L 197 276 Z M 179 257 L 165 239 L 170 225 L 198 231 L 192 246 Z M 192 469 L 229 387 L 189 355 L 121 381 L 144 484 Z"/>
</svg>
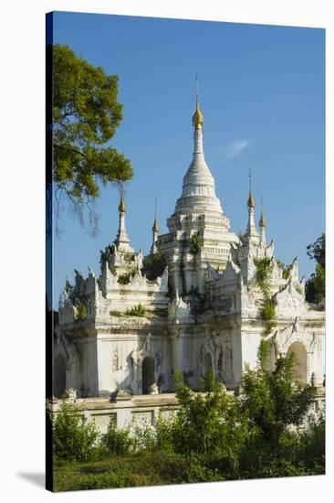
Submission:
<svg viewBox="0 0 334 503">
<path fill-rule="evenodd" d="M 314 446 L 311 445 L 313 454 Z M 321 453 L 320 453 L 321 454 Z M 308 455 L 308 459 L 309 456 Z M 317 456 L 316 456 L 317 457 Z M 320 459 L 319 456 L 317 459 Z M 154 452 L 136 455 L 112 455 L 102 461 L 73 463 L 56 466 L 54 469 L 54 491 L 75 491 L 120 487 L 165 486 L 197 482 L 241 480 L 257 477 L 310 476 L 325 473 L 324 462 L 312 467 L 294 466 L 281 460 L 277 466 L 272 461 L 261 474 L 241 470 L 239 475 L 229 474 L 228 469 L 208 459 L 189 458 L 174 453 Z"/>
</svg>

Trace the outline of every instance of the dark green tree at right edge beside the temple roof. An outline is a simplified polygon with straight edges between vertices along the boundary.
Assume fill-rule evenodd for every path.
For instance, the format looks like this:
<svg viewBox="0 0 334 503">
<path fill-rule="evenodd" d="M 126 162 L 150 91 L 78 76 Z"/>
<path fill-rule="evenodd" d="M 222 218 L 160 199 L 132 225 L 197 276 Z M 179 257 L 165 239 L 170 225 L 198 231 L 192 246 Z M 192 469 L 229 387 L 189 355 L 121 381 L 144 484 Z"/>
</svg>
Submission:
<svg viewBox="0 0 334 503">
<path fill-rule="evenodd" d="M 321 234 L 318 240 L 307 246 L 308 257 L 317 262 L 316 270 L 306 283 L 306 299 L 318 304 L 326 294 L 326 239 Z"/>
</svg>

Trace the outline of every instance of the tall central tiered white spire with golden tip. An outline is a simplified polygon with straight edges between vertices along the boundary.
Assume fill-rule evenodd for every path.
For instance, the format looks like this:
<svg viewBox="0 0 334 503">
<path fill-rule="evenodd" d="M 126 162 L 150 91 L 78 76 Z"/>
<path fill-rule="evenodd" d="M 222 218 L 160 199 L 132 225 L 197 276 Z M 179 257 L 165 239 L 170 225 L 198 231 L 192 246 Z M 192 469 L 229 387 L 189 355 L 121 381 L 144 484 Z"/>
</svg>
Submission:
<svg viewBox="0 0 334 503">
<path fill-rule="evenodd" d="M 183 178 L 183 191 L 172 216 L 167 219 L 169 232 L 161 234 L 157 247 L 167 260 L 173 294 L 204 292 L 207 264 L 224 270 L 231 243 L 238 243 L 230 232 L 220 200 L 215 195 L 214 177 L 205 163 L 203 123 L 196 95 L 193 112 L 193 160 Z"/>
</svg>

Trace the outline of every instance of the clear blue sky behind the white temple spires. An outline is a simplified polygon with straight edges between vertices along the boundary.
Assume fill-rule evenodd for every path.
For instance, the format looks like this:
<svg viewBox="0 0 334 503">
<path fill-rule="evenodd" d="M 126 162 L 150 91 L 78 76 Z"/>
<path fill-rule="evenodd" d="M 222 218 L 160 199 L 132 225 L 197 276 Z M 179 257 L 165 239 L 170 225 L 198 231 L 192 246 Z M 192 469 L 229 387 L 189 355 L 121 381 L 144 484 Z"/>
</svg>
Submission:
<svg viewBox="0 0 334 503">
<path fill-rule="evenodd" d="M 148 252 L 154 198 L 165 232 L 192 159 L 194 76 L 204 113 L 205 159 L 235 232 L 245 230 L 248 169 L 256 221 L 264 199 L 267 240 L 283 262 L 314 262 L 306 246 L 325 229 L 325 31 L 131 16 L 56 13 L 54 42 L 116 73 L 123 120 L 111 141 L 130 158 L 126 225 Z M 116 237 L 116 187 L 96 205 L 91 238 L 68 211 L 55 241 L 55 303 L 73 269 L 99 272 L 99 250 Z"/>
</svg>

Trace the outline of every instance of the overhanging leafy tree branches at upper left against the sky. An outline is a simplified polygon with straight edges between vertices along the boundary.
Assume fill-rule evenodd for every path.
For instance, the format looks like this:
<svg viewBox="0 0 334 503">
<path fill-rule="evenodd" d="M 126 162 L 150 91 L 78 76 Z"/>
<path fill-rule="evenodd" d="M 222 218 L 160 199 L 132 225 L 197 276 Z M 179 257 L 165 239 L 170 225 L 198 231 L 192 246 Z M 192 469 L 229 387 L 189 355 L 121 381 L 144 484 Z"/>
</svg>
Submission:
<svg viewBox="0 0 334 503">
<path fill-rule="evenodd" d="M 99 184 L 132 177 L 130 161 L 108 144 L 122 119 L 117 101 L 119 78 L 90 65 L 68 46 L 57 44 L 48 50 L 53 59 L 56 210 L 65 197 L 83 222 L 83 209 L 87 208 L 94 230 L 97 215 L 92 203 L 99 198 Z"/>
</svg>

